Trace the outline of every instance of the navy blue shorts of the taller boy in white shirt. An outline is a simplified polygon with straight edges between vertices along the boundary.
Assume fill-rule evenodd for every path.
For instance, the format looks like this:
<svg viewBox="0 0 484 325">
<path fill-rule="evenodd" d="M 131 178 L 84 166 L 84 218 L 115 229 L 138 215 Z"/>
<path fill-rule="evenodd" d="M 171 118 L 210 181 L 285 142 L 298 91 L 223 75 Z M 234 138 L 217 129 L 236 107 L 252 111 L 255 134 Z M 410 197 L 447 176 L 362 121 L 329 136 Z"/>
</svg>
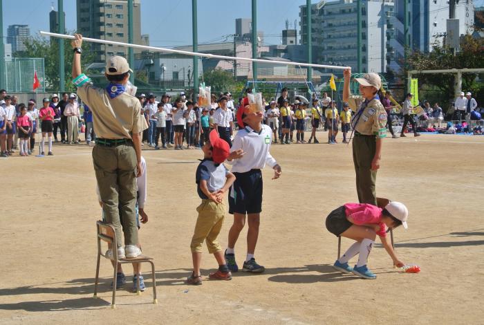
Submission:
<svg viewBox="0 0 484 325">
<path fill-rule="evenodd" d="M 251 169 L 234 175 L 236 179 L 229 192 L 229 213 L 260 213 L 262 211 L 261 169 Z"/>
</svg>

